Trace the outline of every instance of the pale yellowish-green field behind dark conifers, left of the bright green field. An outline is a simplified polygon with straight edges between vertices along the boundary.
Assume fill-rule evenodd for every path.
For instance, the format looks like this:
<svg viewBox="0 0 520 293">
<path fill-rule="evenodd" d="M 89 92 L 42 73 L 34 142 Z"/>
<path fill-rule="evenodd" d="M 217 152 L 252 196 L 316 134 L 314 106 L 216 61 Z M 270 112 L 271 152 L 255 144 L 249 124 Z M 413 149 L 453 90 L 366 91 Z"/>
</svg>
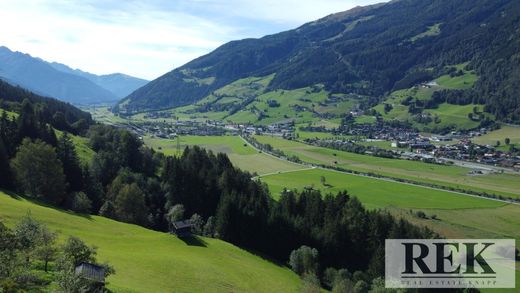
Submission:
<svg viewBox="0 0 520 293">
<path fill-rule="evenodd" d="M 146 145 L 165 155 L 177 155 L 177 141 L 144 137 Z M 303 169 L 302 166 L 259 153 L 238 136 L 181 136 L 181 151 L 186 146 L 198 145 L 216 153 L 225 153 L 236 167 L 249 172 L 267 174 Z M 160 148 L 160 149 L 159 149 Z"/>
</svg>

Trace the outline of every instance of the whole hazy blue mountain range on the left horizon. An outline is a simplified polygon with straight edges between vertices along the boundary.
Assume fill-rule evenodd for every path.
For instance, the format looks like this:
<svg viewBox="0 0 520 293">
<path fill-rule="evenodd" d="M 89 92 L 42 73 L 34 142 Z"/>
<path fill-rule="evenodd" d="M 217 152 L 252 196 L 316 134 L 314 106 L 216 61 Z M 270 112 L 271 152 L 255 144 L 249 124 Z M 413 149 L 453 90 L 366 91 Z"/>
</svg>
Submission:
<svg viewBox="0 0 520 293">
<path fill-rule="evenodd" d="M 3 46 L 0 47 L 0 79 L 76 104 L 116 102 L 147 83 L 121 73 L 95 75 Z"/>
</svg>

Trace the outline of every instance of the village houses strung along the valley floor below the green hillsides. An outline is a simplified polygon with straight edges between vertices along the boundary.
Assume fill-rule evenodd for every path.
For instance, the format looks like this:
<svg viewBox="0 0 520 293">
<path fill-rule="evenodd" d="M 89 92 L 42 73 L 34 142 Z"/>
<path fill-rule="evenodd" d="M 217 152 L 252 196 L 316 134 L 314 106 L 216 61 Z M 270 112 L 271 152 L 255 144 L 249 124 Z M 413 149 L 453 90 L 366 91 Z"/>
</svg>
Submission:
<svg viewBox="0 0 520 293">
<path fill-rule="evenodd" d="M 136 133 L 141 139 L 144 136 L 175 139 L 177 136 L 186 135 L 270 135 L 285 139 L 298 138 L 294 121 L 290 119 L 267 126 L 225 123 L 218 120 L 186 120 L 150 121 L 139 124 L 130 122 L 120 125 L 120 127 Z M 302 129 L 314 132 L 330 131 L 322 128 L 300 127 L 300 130 Z M 359 124 L 348 129 L 330 131 L 335 135 L 334 139 L 307 138 L 304 142 L 360 154 L 420 160 L 435 164 L 474 163 L 475 174 L 489 170 L 495 172 L 520 171 L 520 153 L 514 147 L 505 150 L 497 148 L 496 145 L 478 145 L 472 142 L 472 138 L 486 134 L 488 131 L 488 129 L 482 128 L 466 132 L 453 131 L 446 135 L 424 135 L 400 125 Z M 388 147 L 377 146 L 379 142 L 388 142 Z"/>
</svg>

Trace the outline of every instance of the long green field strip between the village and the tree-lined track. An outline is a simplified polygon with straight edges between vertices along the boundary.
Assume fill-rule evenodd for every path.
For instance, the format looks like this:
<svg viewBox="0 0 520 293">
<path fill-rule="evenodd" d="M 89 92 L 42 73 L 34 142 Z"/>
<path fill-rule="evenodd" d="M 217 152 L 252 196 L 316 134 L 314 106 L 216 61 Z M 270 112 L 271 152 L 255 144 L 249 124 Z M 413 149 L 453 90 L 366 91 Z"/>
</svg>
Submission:
<svg viewBox="0 0 520 293">
<path fill-rule="evenodd" d="M 287 155 L 314 164 L 335 165 L 345 169 L 373 172 L 385 176 L 435 183 L 448 187 L 496 193 L 514 198 L 520 197 L 520 175 L 488 174 L 468 176 L 471 171 L 459 166 L 427 164 L 417 161 L 378 158 L 367 155 L 316 147 L 278 137 L 255 136 L 261 143 L 268 143 Z M 335 163 L 336 162 L 336 163 Z"/>
</svg>

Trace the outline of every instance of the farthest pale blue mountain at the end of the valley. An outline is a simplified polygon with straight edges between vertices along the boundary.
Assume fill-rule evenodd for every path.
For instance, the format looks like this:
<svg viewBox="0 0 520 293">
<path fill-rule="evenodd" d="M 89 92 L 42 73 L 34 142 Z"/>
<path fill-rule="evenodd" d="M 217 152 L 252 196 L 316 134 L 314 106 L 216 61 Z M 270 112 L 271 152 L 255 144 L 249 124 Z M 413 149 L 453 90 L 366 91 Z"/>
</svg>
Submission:
<svg viewBox="0 0 520 293">
<path fill-rule="evenodd" d="M 148 83 L 147 80 L 133 77 L 122 73 L 113 73 L 106 75 L 95 75 L 89 72 L 82 71 L 80 69 L 72 69 L 67 65 L 52 62 L 50 65 L 61 72 L 74 74 L 77 76 L 84 77 L 98 86 L 109 90 L 118 99 L 122 99 L 131 94 L 136 89 L 144 86 Z"/>
</svg>

